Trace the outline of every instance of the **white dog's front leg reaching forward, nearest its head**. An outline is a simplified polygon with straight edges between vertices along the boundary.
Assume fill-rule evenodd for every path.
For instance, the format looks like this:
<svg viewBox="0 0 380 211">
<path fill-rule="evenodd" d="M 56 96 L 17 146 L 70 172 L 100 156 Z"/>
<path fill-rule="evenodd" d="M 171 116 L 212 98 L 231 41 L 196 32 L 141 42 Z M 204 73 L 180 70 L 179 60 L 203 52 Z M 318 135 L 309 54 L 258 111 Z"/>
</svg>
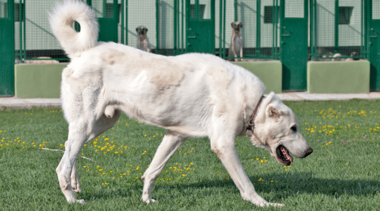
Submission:
<svg viewBox="0 0 380 211">
<path fill-rule="evenodd" d="M 240 190 L 240 194 L 245 201 L 250 201 L 259 207 L 283 207 L 282 204 L 269 203 L 259 196 L 249 177 L 241 165 L 238 153 L 235 148 L 236 137 L 226 138 L 228 135 L 220 135 L 219 138 L 211 139 L 211 149 L 215 152 L 227 169 L 231 178 Z"/>
</svg>

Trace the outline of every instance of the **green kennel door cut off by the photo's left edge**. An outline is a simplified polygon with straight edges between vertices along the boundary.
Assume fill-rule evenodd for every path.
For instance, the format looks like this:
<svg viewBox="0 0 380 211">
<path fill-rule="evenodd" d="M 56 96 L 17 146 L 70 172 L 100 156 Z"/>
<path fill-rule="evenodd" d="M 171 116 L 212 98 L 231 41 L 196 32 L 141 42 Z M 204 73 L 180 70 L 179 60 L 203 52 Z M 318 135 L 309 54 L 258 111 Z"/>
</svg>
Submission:
<svg viewBox="0 0 380 211">
<path fill-rule="evenodd" d="M 14 95 L 14 0 L 0 0 L 0 96 Z"/>
</svg>

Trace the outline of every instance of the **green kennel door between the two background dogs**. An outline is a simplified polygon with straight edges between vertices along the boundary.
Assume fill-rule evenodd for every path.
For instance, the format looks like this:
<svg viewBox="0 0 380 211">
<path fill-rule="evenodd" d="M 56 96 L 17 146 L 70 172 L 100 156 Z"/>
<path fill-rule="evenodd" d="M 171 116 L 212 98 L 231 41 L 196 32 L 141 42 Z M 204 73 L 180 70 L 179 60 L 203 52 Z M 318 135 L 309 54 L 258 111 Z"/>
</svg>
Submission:
<svg viewBox="0 0 380 211">
<path fill-rule="evenodd" d="M 187 0 L 186 22 L 186 52 L 215 54 L 215 0 Z"/>
</svg>

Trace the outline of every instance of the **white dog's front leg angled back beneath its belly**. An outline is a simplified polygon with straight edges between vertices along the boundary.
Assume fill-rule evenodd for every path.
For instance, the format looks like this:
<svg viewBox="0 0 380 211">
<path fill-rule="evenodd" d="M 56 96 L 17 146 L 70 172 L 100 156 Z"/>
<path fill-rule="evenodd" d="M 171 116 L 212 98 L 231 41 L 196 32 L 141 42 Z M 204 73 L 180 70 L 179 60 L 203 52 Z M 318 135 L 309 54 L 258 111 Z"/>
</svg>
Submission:
<svg viewBox="0 0 380 211">
<path fill-rule="evenodd" d="M 160 175 L 161 170 L 165 167 L 173 153 L 185 140 L 186 137 L 179 136 L 170 130 L 165 134 L 149 168 L 145 170 L 144 175 L 141 177 L 142 180 L 144 180 L 142 201 L 146 202 L 146 204 L 149 204 L 149 202 L 156 202 L 156 200 L 151 198 L 154 181 Z"/>
</svg>

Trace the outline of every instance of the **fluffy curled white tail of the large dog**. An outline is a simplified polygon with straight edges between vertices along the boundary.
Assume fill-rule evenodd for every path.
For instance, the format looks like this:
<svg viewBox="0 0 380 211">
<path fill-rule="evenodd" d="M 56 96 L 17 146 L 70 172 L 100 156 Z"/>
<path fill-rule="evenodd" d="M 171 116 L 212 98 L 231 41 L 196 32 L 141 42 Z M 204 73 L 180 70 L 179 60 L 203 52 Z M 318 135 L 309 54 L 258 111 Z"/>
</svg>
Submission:
<svg viewBox="0 0 380 211">
<path fill-rule="evenodd" d="M 79 0 L 56 3 L 49 13 L 49 21 L 54 36 L 70 58 L 95 47 L 99 27 L 94 11 L 86 3 Z M 80 24 L 80 32 L 73 29 L 74 21 Z"/>
</svg>

